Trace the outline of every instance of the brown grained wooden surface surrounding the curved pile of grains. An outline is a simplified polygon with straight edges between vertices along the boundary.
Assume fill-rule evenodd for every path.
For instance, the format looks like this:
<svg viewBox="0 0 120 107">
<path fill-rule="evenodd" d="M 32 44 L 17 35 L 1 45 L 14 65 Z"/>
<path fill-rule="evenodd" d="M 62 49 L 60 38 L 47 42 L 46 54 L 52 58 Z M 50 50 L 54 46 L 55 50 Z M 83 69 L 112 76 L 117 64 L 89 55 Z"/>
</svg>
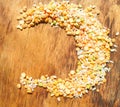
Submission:
<svg viewBox="0 0 120 107">
<path fill-rule="evenodd" d="M 120 32 L 120 0 L 71 0 L 84 7 L 95 4 L 100 9 L 100 21 L 111 29 L 110 36 L 118 45 L 117 52 L 111 54 L 114 65 L 100 92 L 58 102 L 45 89 L 37 88 L 30 95 L 16 88 L 21 72 L 34 78 L 44 74 L 65 78 L 76 67 L 74 39 L 61 28 L 41 24 L 23 31 L 16 29 L 19 10 L 39 1 L 0 0 L 0 107 L 120 107 L 120 35 L 115 36 Z"/>
</svg>

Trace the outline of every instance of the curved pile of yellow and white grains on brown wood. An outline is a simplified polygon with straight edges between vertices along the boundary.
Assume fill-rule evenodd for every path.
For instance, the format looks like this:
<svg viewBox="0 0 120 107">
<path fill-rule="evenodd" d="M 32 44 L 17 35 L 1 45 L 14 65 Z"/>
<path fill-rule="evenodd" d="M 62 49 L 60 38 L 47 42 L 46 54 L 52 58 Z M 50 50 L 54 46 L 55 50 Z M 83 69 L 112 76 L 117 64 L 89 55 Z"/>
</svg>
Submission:
<svg viewBox="0 0 120 107">
<path fill-rule="evenodd" d="M 72 35 L 76 41 L 77 67 L 71 70 L 68 77 L 61 79 L 52 76 L 41 76 L 33 79 L 25 73 L 21 74 L 20 84 L 24 85 L 28 93 L 34 88 L 44 87 L 51 96 L 82 97 L 89 90 L 95 90 L 97 85 L 106 82 L 106 72 L 110 70 L 106 66 L 110 61 L 110 51 L 114 47 L 114 39 L 109 38 L 109 29 L 104 27 L 96 18 L 95 6 L 85 9 L 82 6 L 69 3 L 69 1 L 55 2 L 39 5 L 32 8 L 24 7 L 17 18 L 18 29 L 34 27 L 40 23 L 49 23 L 51 26 L 59 26 Z M 18 84 L 17 87 L 21 88 Z M 60 99 L 59 99 L 60 100 Z"/>
</svg>

